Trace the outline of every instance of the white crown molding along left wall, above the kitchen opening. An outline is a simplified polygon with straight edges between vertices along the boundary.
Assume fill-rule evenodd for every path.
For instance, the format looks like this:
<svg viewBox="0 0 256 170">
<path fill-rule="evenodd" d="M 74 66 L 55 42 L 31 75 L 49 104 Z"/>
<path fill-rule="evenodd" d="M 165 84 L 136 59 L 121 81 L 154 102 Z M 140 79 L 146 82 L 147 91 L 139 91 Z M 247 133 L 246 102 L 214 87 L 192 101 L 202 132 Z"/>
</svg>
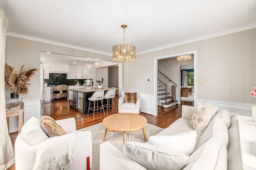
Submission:
<svg viewBox="0 0 256 170">
<path fill-rule="evenodd" d="M 92 52 L 92 53 L 98 53 L 98 54 L 102 54 L 102 55 L 112 56 L 112 54 L 105 53 L 105 52 L 102 52 L 102 51 L 87 49 L 87 48 L 78 47 L 78 46 L 75 46 L 75 45 L 68 45 L 68 44 L 59 43 L 59 42 L 56 42 L 56 41 L 49 41 L 49 40 L 46 40 L 46 39 L 40 39 L 40 38 L 31 37 L 31 36 L 18 34 L 18 33 L 13 33 L 13 32 L 8 32 L 6 35 L 9 35 L 9 36 L 12 36 L 12 37 L 23 38 L 23 39 L 29 39 L 29 40 L 32 40 L 32 41 L 38 41 L 38 42 L 41 42 L 41 43 L 59 45 L 59 46 L 62 46 L 62 47 L 68 47 L 68 48 L 72 48 L 72 49 L 78 49 L 78 50 L 82 50 L 82 51 L 88 51 L 88 52 Z"/>
</svg>

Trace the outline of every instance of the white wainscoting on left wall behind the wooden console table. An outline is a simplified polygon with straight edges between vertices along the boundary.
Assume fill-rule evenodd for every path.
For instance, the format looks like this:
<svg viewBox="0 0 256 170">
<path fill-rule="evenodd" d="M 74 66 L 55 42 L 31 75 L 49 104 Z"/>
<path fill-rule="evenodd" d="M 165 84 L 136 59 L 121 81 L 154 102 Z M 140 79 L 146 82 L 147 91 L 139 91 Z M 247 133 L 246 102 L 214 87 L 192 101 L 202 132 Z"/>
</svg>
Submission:
<svg viewBox="0 0 256 170">
<path fill-rule="evenodd" d="M 40 119 L 40 100 L 25 100 L 24 102 L 24 123 L 34 116 Z M 10 117 L 10 133 L 18 131 L 18 116 Z"/>
</svg>

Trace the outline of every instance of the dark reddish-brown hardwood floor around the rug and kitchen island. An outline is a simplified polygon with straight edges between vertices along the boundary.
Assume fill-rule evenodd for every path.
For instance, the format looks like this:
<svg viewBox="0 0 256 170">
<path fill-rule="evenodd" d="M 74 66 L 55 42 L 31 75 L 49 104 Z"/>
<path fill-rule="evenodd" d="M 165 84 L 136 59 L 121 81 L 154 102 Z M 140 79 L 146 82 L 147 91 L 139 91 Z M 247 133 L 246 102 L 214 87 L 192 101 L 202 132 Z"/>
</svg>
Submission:
<svg viewBox="0 0 256 170">
<path fill-rule="evenodd" d="M 108 115 L 112 115 L 118 113 L 118 95 L 115 97 L 116 106 L 108 111 Z M 152 125 L 156 125 L 158 127 L 166 128 L 178 118 L 181 117 L 181 106 L 188 105 L 194 106 L 194 102 L 185 102 L 182 101 L 181 105 L 172 106 L 169 108 L 162 108 L 158 106 L 158 115 L 152 116 L 146 113 L 141 113 L 146 119 L 148 123 Z M 82 129 L 84 127 L 88 127 L 97 123 L 102 122 L 102 120 L 108 116 L 104 115 L 104 113 L 95 113 L 94 119 L 93 115 L 83 115 L 82 113 L 76 111 L 74 108 L 69 107 L 68 101 L 66 99 L 62 100 L 53 100 L 52 103 L 44 104 L 44 115 L 51 116 L 54 120 L 65 119 L 74 117 L 76 119 L 76 129 Z M 12 145 L 14 146 L 16 137 L 18 133 L 11 133 L 10 137 L 12 140 Z M 15 164 L 13 164 L 8 170 L 15 170 Z"/>
</svg>

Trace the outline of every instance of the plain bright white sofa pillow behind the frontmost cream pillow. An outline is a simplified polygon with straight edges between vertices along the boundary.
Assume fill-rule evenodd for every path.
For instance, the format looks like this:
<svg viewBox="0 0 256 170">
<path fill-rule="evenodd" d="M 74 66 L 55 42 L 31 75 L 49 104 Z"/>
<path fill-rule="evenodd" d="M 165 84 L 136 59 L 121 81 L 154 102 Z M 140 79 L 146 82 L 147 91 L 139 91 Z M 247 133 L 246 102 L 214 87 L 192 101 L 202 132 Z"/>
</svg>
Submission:
<svg viewBox="0 0 256 170">
<path fill-rule="evenodd" d="M 188 131 L 177 135 L 150 136 L 148 144 L 165 147 L 170 152 L 190 155 L 196 145 L 196 131 Z"/>
</svg>

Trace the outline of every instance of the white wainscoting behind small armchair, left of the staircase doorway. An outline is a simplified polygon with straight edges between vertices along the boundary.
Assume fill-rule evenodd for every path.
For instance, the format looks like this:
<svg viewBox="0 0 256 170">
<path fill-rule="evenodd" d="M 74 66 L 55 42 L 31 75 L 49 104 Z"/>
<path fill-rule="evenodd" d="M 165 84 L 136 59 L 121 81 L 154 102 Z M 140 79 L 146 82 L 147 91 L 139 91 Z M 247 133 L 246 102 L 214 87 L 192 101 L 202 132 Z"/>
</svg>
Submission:
<svg viewBox="0 0 256 170">
<path fill-rule="evenodd" d="M 133 93 L 133 92 L 127 92 Z M 122 96 L 124 96 L 124 91 L 122 91 Z M 140 96 L 140 111 L 150 115 L 154 115 L 153 109 L 153 94 L 137 93 L 137 96 Z"/>
</svg>

